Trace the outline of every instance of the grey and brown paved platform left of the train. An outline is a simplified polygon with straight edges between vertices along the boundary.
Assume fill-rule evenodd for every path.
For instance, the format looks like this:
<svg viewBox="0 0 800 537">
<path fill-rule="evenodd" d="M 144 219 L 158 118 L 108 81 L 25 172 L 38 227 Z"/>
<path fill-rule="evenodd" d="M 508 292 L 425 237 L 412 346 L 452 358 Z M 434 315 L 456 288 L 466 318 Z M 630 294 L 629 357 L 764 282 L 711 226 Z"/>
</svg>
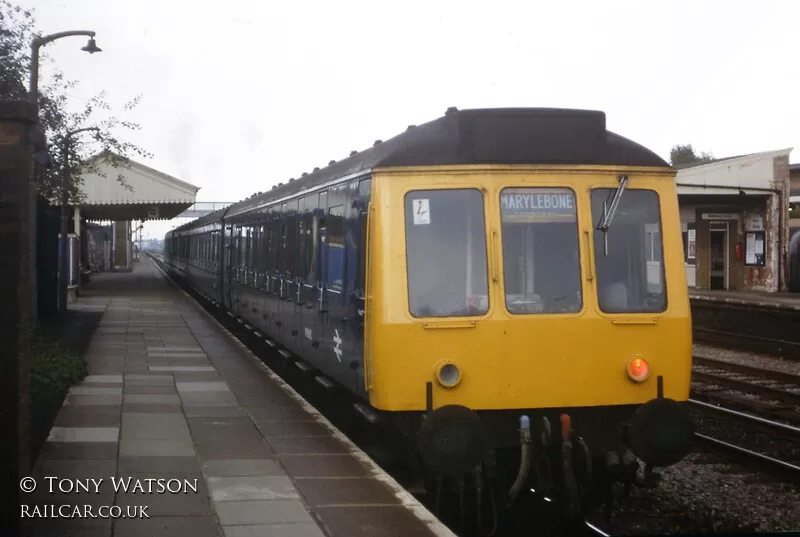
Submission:
<svg viewBox="0 0 800 537">
<path fill-rule="evenodd" d="M 70 307 L 104 313 L 23 501 L 34 536 L 455 537 L 152 260 Z"/>
</svg>

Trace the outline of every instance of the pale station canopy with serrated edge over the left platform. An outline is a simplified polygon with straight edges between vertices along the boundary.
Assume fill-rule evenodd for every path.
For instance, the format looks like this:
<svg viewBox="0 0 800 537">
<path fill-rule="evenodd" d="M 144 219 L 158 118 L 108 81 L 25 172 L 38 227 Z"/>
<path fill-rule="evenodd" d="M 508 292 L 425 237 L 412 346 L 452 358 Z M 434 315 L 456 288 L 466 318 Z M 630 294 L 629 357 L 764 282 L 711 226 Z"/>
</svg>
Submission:
<svg viewBox="0 0 800 537">
<path fill-rule="evenodd" d="M 197 201 L 200 187 L 134 160 L 126 159 L 122 167 L 106 162 L 103 153 L 90 160 L 100 173 L 81 176 L 84 199 L 78 208 L 86 220 L 170 220 Z"/>
</svg>

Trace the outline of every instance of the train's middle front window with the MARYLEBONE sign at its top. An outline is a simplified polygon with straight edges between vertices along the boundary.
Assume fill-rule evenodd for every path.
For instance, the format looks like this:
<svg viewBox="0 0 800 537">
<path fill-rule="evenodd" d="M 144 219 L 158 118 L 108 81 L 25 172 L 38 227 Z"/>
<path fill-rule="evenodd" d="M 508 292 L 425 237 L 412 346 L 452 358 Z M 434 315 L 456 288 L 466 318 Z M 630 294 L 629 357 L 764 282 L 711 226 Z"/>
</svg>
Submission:
<svg viewBox="0 0 800 537">
<path fill-rule="evenodd" d="M 500 217 L 508 312 L 580 311 L 575 193 L 568 188 L 505 188 L 500 193 Z"/>
</svg>

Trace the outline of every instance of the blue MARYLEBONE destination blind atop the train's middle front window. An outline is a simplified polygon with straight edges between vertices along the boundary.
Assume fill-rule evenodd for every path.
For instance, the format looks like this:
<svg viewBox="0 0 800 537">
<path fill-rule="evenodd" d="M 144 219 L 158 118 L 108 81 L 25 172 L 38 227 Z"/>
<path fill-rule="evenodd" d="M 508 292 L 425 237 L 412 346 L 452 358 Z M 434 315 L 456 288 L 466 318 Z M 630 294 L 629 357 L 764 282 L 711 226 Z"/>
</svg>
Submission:
<svg viewBox="0 0 800 537">
<path fill-rule="evenodd" d="M 575 222 L 575 193 L 568 188 L 506 188 L 500 193 L 503 222 Z"/>
</svg>

